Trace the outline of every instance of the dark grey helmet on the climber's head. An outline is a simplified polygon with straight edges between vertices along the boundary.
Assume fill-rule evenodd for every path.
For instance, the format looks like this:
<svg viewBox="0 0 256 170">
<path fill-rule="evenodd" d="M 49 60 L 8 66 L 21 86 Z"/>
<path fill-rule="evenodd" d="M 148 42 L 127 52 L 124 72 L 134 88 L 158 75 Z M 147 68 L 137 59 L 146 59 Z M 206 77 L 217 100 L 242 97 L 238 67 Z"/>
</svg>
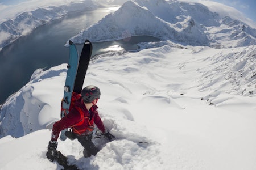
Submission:
<svg viewBox="0 0 256 170">
<path fill-rule="evenodd" d="M 90 85 L 82 90 L 81 96 L 85 103 L 92 103 L 94 99 L 100 99 L 101 91 L 100 88 Z"/>
</svg>

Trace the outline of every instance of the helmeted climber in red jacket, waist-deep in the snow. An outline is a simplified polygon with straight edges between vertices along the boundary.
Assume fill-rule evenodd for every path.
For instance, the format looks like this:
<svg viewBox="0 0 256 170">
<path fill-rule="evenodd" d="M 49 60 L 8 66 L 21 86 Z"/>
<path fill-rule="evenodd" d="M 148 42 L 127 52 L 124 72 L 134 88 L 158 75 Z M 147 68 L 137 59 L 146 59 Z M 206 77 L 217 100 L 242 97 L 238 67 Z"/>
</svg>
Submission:
<svg viewBox="0 0 256 170">
<path fill-rule="evenodd" d="M 73 140 L 78 139 L 81 145 L 84 147 L 84 156 L 89 157 L 96 155 L 99 149 L 92 142 L 92 134 L 94 129 L 94 123 L 98 129 L 112 141 L 115 137 L 105 129 L 104 124 L 101 121 L 97 111 L 97 101 L 100 99 L 100 89 L 96 86 L 87 86 L 81 92 L 81 97 L 75 101 L 74 107 L 69 113 L 61 118 L 61 120 L 55 122 L 52 128 L 52 137 L 49 141 L 47 158 L 52 162 L 57 155 L 57 139 L 60 131 L 66 128 L 71 128 L 72 131 L 66 131 L 65 135 Z"/>
</svg>

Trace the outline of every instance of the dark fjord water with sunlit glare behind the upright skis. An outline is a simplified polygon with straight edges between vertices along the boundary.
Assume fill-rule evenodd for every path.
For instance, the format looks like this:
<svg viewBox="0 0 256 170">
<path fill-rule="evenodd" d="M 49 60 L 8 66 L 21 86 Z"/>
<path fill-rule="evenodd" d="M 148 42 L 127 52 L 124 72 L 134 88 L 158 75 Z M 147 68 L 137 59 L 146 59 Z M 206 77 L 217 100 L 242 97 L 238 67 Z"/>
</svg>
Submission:
<svg viewBox="0 0 256 170">
<path fill-rule="evenodd" d="M 22 88 L 36 69 L 68 63 L 69 48 L 65 43 L 82 29 L 114 12 L 117 8 L 100 8 L 79 12 L 44 24 L 29 35 L 20 37 L 0 52 L 0 104 Z M 99 35 L 100 36 L 100 35 Z M 93 55 L 108 50 L 135 50 L 138 42 L 158 41 L 151 36 L 131 37 L 129 41 L 94 42 Z M 77 45 L 81 52 L 82 45 Z"/>
</svg>

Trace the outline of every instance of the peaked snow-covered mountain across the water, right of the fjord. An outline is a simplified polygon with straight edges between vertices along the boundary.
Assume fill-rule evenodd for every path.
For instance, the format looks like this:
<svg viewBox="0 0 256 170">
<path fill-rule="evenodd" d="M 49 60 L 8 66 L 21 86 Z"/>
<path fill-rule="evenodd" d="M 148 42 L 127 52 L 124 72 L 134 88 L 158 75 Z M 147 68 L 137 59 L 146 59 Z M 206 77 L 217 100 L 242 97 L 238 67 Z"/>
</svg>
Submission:
<svg viewBox="0 0 256 170">
<path fill-rule="evenodd" d="M 137 35 L 214 48 L 256 44 L 256 29 L 240 20 L 223 18 L 200 3 L 164 0 L 127 1 L 72 40 L 82 43 L 85 39 L 108 41 Z"/>
</svg>

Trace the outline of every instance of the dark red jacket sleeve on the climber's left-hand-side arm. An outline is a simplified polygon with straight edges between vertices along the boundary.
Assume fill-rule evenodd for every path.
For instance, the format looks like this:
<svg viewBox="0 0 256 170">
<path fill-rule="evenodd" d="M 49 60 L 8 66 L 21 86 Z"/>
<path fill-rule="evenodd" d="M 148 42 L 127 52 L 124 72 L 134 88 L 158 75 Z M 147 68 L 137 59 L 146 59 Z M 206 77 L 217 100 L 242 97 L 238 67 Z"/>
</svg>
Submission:
<svg viewBox="0 0 256 170">
<path fill-rule="evenodd" d="M 80 113 L 73 108 L 67 116 L 61 118 L 61 120 L 55 122 L 52 128 L 52 141 L 57 141 L 61 130 L 71 127 L 80 121 Z"/>
</svg>

